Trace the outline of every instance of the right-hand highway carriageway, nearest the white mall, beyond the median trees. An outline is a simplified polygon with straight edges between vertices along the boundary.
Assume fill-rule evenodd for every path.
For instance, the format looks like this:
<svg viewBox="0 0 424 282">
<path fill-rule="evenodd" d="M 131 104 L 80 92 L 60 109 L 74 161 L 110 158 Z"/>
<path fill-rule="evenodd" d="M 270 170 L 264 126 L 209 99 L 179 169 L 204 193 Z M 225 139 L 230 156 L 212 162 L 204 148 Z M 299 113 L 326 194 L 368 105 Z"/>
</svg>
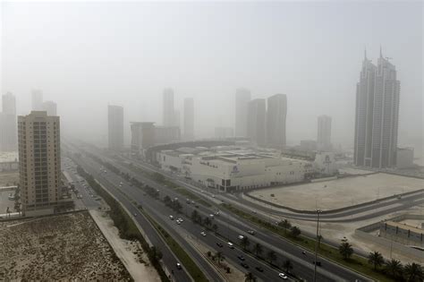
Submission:
<svg viewBox="0 0 424 282">
<path fill-rule="evenodd" d="M 108 159 L 108 161 L 113 162 L 112 159 Z M 134 174 L 134 172 L 126 167 L 123 167 L 122 165 L 119 165 L 117 162 L 114 162 L 114 166 L 118 167 L 125 173 L 129 173 L 130 175 Z M 137 178 L 140 178 L 143 182 L 150 186 L 157 187 L 158 189 L 165 188 L 159 184 L 153 183 L 150 180 L 143 178 L 141 175 L 137 175 Z M 172 197 L 179 196 L 179 194 L 176 194 L 171 189 L 167 189 L 167 192 L 169 192 Z M 207 209 L 206 207 L 200 206 L 199 211 L 203 212 L 204 215 L 208 215 L 213 212 L 213 209 Z M 188 212 L 190 214 L 190 210 Z M 302 254 L 302 251 L 304 250 L 300 247 L 297 247 L 276 235 L 269 234 L 267 230 L 261 230 L 258 228 L 258 226 L 253 226 L 249 222 L 244 222 L 241 218 L 234 218 L 232 215 L 223 214 L 223 216 L 221 216 L 219 219 L 216 218 L 216 223 L 218 223 L 219 230 L 225 230 L 225 228 L 228 229 L 224 235 L 228 236 L 229 239 L 233 242 L 237 242 L 238 235 L 246 235 L 246 230 L 248 230 L 248 228 L 256 230 L 257 235 L 250 236 L 250 241 L 252 242 L 251 244 L 259 242 L 265 247 L 266 250 L 267 248 L 274 249 L 277 252 L 277 260 L 275 262 L 277 265 L 281 265 L 283 261 L 290 259 L 294 264 L 293 273 L 300 276 L 301 278 L 312 280 L 312 253 L 306 252 L 306 255 Z M 264 251 L 264 253 L 266 252 L 267 251 Z M 367 280 L 367 278 L 361 277 L 357 273 L 352 272 L 349 269 L 345 269 L 331 261 L 326 261 L 322 258 L 319 259 L 319 261 L 322 261 L 323 267 L 318 268 L 318 281 L 355 281 L 355 279 L 360 279 L 361 281 Z"/>
</svg>

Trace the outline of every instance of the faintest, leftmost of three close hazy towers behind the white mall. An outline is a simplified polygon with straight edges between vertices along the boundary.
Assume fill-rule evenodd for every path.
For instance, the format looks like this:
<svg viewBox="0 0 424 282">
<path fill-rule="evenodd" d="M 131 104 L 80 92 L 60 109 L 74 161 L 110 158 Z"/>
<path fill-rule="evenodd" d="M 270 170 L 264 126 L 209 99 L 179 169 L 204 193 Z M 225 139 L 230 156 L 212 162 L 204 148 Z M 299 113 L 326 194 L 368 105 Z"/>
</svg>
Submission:
<svg viewBox="0 0 424 282">
<path fill-rule="evenodd" d="M 248 128 L 248 104 L 250 90 L 238 89 L 235 91 L 235 136 L 246 137 Z"/>
</svg>

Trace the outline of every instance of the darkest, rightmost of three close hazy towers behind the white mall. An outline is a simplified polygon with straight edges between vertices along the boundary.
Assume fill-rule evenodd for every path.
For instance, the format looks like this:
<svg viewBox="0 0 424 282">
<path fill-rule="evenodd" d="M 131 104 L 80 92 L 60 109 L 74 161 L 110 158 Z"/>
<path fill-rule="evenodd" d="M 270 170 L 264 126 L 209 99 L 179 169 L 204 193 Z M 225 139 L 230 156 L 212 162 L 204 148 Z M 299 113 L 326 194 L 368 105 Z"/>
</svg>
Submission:
<svg viewBox="0 0 424 282">
<path fill-rule="evenodd" d="M 287 116 L 287 97 L 276 94 L 267 98 L 267 144 L 282 148 L 285 145 L 285 118 Z"/>
</svg>

